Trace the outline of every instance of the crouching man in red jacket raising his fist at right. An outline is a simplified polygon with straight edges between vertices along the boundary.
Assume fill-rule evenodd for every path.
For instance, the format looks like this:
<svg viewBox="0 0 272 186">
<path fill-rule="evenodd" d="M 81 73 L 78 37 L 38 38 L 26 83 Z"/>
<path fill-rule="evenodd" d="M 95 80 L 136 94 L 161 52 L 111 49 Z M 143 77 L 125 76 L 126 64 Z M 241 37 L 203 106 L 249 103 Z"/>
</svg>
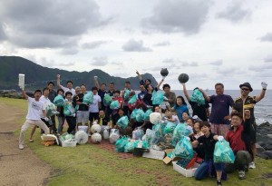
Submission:
<svg viewBox="0 0 272 186">
<path fill-rule="evenodd" d="M 245 171 L 248 171 L 248 164 L 252 162 L 253 152 L 250 143 L 250 111 L 245 110 L 245 122 L 239 113 L 231 113 L 231 129 L 225 139 L 234 152 L 236 158 L 234 163 L 226 166 L 227 172 L 238 170 L 238 178 L 246 179 Z"/>
</svg>

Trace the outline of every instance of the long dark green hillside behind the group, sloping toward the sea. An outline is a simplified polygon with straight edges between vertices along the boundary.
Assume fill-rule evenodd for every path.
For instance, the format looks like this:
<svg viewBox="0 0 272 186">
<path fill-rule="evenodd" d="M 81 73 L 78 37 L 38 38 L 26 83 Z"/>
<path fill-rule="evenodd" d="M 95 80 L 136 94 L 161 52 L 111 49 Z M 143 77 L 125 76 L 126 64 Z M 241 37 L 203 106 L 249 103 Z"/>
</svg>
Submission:
<svg viewBox="0 0 272 186">
<path fill-rule="evenodd" d="M 36 88 L 44 88 L 48 81 L 56 83 L 56 74 L 61 74 L 62 84 L 65 85 L 67 80 L 73 81 L 73 86 L 80 85 L 82 83 L 87 85 L 87 89 L 90 90 L 94 85 L 93 76 L 99 77 L 100 83 L 109 84 L 115 83 L 116 89 L 122 89 L 125 81 L 131 82 L 132 89 L 138 90 L 139 79 L 136 74 L 134 77 L 121 78 L 114 77 L 108 73 L 99 69 L 93 69 L 90 72 L 69 72 L 56 68 L 48 68 L 39 64 L 34 64 L 23 57 L 18 56 L 0 56 L 0 90 L 3 89 L 18 89 L 18 73 L 25 74 L 25 89 L 30 91 Z M 156 80 L 150 73 L 142 75 L 143 79 L 149 78 L 152 83 Z"/>
</svg>

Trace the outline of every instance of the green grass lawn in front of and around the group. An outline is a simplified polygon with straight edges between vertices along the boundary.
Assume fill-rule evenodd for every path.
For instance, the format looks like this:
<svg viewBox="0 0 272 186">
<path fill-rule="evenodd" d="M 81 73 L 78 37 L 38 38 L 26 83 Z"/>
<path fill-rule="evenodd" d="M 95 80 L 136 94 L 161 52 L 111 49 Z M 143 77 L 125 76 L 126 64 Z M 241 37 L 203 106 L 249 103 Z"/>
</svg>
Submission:
<svg viewBox="0 0 272 186">
<path fill-rule="evenodd" d="M 16 106 L 26 113 L 26 101 L 0 98 L 0 102 Z M 19 121 L 23 123 L 24 118 Z M 15 132 L 18 135 L 20 123 Z M 29 136 L 30 130 L 25 136 Z M 25 139 L 25 142 L 27 139 Z M 207 178 L 195 181 L 173 171 L 171 165 L 146 158 L 121 159 L 117 152 L 109 152 L 95 144 L 77 145 L 75 148 L 59 146 L 45 147 L 40 143 L 39 132 L 34 134 L 34 142 L 26 142 L 34 153 L 53 168 L 47 185 L 215 185 L 215 180 Z M 224 185 L 272 185 L 272 179 L 264 174 L 272 174 L 272 161 L 257 158 L 257 169 L 249 170 L 247 179 L 238 180 L 238 173 L 228 174 Z M 164 180 L 166 179 L 166 181 Z"/>
</svg>

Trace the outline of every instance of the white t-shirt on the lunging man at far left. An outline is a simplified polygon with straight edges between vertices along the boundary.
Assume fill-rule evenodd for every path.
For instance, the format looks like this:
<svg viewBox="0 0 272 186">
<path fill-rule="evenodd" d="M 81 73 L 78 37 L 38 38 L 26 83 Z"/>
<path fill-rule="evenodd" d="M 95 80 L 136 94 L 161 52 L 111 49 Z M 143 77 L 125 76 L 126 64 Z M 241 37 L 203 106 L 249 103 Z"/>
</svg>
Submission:
<svg viewBox="0 0 272 186">
<path fill-rule="evenodd" d="M 41 101 L 35 101 L 34 98 L 28 97 L 28 109 L 26 120 L 41 120 L 41 113 L 45 111 L 45 104 Z"/>
</svg>

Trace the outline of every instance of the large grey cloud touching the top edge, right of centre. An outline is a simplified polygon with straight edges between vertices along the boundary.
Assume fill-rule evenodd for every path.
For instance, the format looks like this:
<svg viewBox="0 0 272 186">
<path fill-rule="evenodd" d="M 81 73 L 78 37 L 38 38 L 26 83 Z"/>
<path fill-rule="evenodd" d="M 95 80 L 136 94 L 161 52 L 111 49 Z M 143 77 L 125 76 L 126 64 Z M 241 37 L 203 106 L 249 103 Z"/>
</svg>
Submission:
<svg viewBox="0 0 272 186">
<path fill-rule="evenodd" d="M 163 33 L 196 34 L 207 19 L 210 5 L 209 0 L 160 0 L 142 25 Z"/>
</svg>

